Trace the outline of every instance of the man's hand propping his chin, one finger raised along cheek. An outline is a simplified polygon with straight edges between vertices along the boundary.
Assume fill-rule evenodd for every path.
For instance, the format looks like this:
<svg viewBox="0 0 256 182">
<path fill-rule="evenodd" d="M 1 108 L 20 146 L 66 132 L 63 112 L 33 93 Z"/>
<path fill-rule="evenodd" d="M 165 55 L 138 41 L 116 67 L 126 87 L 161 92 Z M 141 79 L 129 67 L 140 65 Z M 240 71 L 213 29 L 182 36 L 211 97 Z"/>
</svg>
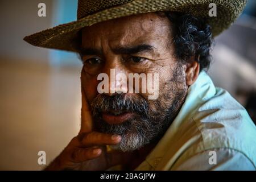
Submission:
<svg viewBox="0 0 256 182">
<path fill-rule="evenodd" d="M 46 170 L 105 170 L 127 161 L 123 152 L 106 151 L 106 145 L 118 144 L 121 136 L 93 131 L 90 107 L 82 89 L 81 129 Z"/>
</svg>

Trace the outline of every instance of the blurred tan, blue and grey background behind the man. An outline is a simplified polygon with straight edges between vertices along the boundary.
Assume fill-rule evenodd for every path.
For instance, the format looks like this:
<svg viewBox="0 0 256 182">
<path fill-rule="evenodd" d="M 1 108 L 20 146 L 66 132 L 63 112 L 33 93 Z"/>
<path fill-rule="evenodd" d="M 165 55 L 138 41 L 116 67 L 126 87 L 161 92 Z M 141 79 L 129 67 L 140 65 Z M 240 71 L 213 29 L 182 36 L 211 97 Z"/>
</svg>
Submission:
<svg viewBox="0 0 256 182">
<path fill-rule="evenodd" d="M 46 17 L 38 4 L 46 4 Z M 26 35 L 76 20 L 77 0 L 0 1 L 0 170 L 40 170 L 80 127 L 80 70 L 75 53 L 33 47 Z M 215 40 L 208 71 L 255 120 L 256 1 Z"/>
</svg>

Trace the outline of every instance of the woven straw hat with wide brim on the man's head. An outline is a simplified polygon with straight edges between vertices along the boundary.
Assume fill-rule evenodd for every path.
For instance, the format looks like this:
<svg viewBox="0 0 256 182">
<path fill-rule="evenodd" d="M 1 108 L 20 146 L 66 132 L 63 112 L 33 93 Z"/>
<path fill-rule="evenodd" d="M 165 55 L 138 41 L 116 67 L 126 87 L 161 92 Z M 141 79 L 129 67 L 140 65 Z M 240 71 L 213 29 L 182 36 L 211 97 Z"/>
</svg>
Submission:
<svg viewBox="0 0 256 182">
<path fill-rule="evenodd" d="M 209 16 L 209 4 L 217 6 L 217 16 Z M 203 18 L 213 36 L 228 28 L 241 14 L 246 0 L 79 0 L 77 20 L 26 36 L 34 46 L 77 52 L 78 32 L 105 20 L 155 11 L 176 11 Z"/>
</svg>

